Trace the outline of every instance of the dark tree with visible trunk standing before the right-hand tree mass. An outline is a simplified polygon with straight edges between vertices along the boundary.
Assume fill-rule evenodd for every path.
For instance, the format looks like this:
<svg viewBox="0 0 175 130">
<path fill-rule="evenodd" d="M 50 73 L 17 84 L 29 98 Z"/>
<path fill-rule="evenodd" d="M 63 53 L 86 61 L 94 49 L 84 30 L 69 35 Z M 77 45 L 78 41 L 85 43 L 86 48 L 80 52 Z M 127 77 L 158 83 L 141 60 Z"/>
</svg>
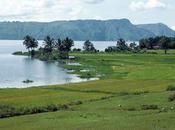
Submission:
<svg viewBox="0 0 175 130">
<path fill-rule="evenodd" d="M 167 50 L 169 49 L 169 43 L 171 42 L 170 38 L 162 36 L 160 39 L 160 43 L 162 48 L 165 50 L 165 54 L 167 54 Z"/>
</svg>

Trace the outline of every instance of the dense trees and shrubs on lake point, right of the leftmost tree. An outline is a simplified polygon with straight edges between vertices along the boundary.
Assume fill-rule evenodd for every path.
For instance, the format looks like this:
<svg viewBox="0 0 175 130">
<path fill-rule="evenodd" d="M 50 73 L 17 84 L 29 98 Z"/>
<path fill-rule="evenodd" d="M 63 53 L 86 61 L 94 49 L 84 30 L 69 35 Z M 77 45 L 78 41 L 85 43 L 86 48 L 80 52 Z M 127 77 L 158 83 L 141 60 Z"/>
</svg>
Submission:
<svg viewBox="0 0 175 130">
<path fill-rule="evenodd" d="M 28 36 L 26 36 L 28 38 Z M 28 45 L 25 42 L 25 45 Z M 69 58 L 69 52 L 71 47 L 74 45 L 74 41 L 70 38 L 65 38 L 63 40 L 58 39 L 55 41 L 50 36 L 44 38 L 44 47 L 40 47 L 37 51 L 32 50 L 28 55 L 31 55 L 34 58 L 39 58 L 43 61 L 52 61 L 58 59 L 67 59 Z M 16 55 L 24 55 L 22 52 L 14 53 Z"/>
</svg>

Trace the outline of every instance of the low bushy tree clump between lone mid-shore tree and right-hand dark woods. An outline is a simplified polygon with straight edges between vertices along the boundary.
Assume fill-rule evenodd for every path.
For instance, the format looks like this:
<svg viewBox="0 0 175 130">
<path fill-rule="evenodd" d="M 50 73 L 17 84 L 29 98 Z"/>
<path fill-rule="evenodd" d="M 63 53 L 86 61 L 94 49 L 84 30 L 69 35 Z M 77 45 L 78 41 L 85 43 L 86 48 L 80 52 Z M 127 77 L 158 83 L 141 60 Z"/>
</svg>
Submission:
<svg viewBox="0 0 175 130">
<path fill-rule="evenodd" d="M 139 46 L 133 42 L 127 44 L 124 39 L 119 39 L 116 46 L 110 46 L 105 49 L 105 52 L 138 52 L 140 51 Z"/>
</svg>

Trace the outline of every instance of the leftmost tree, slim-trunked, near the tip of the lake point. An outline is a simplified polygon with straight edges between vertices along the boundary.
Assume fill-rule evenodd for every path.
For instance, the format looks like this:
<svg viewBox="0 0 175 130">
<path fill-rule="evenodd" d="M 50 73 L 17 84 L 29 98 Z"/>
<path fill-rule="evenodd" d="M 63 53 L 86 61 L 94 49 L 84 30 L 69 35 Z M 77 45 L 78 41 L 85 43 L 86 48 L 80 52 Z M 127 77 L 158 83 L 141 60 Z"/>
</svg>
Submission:
<svg viewBox="0 0 175 130">
<path fill-rule="evenodd" d="M 32 36 L 27 35 L 24 37 L 23 45 L 26 46 L 26 49 L 28 50 L 31 57 L 34 57 L 35 48 L 38 47 L 38 41 L 35 38 L 33 38 Z"/>
</svg>

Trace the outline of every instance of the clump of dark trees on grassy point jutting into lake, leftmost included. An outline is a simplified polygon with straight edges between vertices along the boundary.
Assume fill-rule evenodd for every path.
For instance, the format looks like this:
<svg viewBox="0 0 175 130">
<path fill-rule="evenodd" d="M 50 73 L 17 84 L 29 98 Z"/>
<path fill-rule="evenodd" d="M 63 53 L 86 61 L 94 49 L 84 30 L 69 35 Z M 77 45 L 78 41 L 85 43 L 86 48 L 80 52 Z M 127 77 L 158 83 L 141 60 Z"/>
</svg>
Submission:
<svg viewBox="0 0 175 130">
<path fill-rule="evenodd" d="M 74 41 L 68 37 L 63 40 L 55 40 L 50 36 L 46 36 L 44 38 L 44 46 L 40 47 L 37 53 L 35 53 L 35 49 L 38 47 L 38 41 L 32 36 L 26 36 L 23 44 L 28 49 L 31 57 L 37 55 L 37 57 L 42 57 L 46 60 L 58 58 L 66 59 L 69 57 L 71 47 L 74 46 Z"/>
</svg>

